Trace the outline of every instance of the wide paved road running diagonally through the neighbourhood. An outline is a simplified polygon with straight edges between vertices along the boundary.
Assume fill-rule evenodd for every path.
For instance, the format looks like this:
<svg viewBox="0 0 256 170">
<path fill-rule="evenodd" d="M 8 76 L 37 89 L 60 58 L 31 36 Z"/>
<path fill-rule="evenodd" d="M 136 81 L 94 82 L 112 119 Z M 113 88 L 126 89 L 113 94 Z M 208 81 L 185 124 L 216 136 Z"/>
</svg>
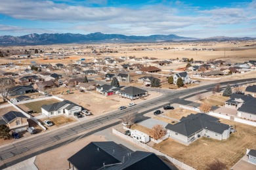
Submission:
<svg viewBox="0 0 256 170">
<path fill-rule="evenodd" d="M 246 82 L 246 81 L 249 82 L 251 80 L 256 81 L 256 79 L 251 78 L 246 80 L 234 80 L 230 82 L 221 82 L 221 85 L 236 84 L 236 83 Z M 47 152 L 48 150 L 52 150 L 54 148 L 62 146 L 63 144 L 71 143 L 81 137 L 91 135 L 92 133 L 96 133 L 97 131 L 100 131 L 102 129 L 106 129 L 106 127 L 102 127 L 100 129 L 97 129 L 87 134 L 87 131 L 89 129 L 93 129 L 95 127 L 101 126 L 102 124 L 107 124 L 112 120 L 117 120 L 129 112 L 135 112 L 137 121 L 141 121 L 146 119 L 146 117 L 143 116 L 144 114 L 146 114 L 147 112 L 159 109 L 160 107 L 163 107 L 163 105 L 165 105 L 163 103 L 166 103 L 166 102 L 179 103 L 182 105 L 191 105 L 193 107 L 196 107 L 198 103 L 194 103 L 192 101 L 186 101 L 184 99 L 179 99 L 179 97 L 200 92 L 202 90 L 204 90 L 205 92 L 211 91 L 214 86 L 215 84 L 211 84 L 206 86 L 199 86 L 193 89 L 186 89 L 181 91 L 165 93 L 164 95 L 161 95 L 158 98 L 151 99 L 148 101 L 146 100 L 144 103 L 141 103 L 134 107 L 130 107 L 125 110 L 115 110 L 113 112 L 110 112 L 109 114 L 98 116 L 97 118 L 92 120 L 86 120 L 85 122 L 77 122 L 77 124 L 73 124 L 72 126 L 64 127 L 56 131 L 49 131 L 48 133 L 43 133 L 39 136 L 32 137 L 31 139 L 25 139 L 23 141 L 20 141 L 19 143 L 9 144 L 7 146 L 1 147 L 0 148 L 0 165 L 1 165 L 0 169 L 9 167 L 11 165 L 14 165 L 15 163 L 26 160 L 28 158 L 32 158 L 37 154 Z M 151 108 L 151 109 L 148 109 L 148 108 Z M 140 110 L 144 110 L 144 111 L 140 112 Z M 110 125 L 109 127 L 111 126 L 113 125 Z M 77 133 L 81 133 L 81 132 L 84 132 L 85 135 L 77 136 Z M 70 137 L 73 137 L 73 138 L 70 139 Z M 67 139 L 67 140 L 63 141 L 63 139 Z M 62 140 L 63 142 L 60 143 L 60 140 Z M 49 144 L 51 144 L 51 146 L 49 146 Z M 41 146 L 45 146 L 45 148 L 42 150 L 39 150 L 39 151 L 37 150 L 33 152 L 33 150 Z M 32 152 L 32 154 L 26 157 L 19 156 L 19 154 L 26 153 L 28 151 Z M 9 162 L 5 161 L 8 158 L 12 158 L 12 157 L 15 159 Z"/>
</svg>

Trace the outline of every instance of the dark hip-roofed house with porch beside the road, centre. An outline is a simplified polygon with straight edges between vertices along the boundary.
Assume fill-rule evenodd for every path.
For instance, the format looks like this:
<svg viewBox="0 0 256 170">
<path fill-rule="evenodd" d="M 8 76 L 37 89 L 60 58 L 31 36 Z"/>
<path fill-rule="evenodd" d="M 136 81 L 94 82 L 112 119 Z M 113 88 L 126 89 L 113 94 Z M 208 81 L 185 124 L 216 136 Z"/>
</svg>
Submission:
<svg viewBox="0 0 256 170">
<path fill-rule="evenodd" d="M 121 90 L 119 93 L 119 96 L 131 100 L 140 99 L 141 97 L 146 97 L 147 95 L 148 91 L 133 86 L 127 87 L 124 90 Z"/>
</svg>

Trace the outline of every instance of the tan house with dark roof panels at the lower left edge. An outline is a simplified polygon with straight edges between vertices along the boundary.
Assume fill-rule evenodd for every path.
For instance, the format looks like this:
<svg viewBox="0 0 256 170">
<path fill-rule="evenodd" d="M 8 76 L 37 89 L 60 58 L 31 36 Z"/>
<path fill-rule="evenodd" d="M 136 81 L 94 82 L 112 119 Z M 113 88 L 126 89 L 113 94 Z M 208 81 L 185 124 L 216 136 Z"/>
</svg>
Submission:
<svg viewBox="0 0 256 170">
<path fill-rule="evenodd" d="M 21 112 L 10 111 L 0 118 L 1 124 L 8 126 L 11 131 L 26 131 L 28 129 L 28 118 Z"/>
</svg>

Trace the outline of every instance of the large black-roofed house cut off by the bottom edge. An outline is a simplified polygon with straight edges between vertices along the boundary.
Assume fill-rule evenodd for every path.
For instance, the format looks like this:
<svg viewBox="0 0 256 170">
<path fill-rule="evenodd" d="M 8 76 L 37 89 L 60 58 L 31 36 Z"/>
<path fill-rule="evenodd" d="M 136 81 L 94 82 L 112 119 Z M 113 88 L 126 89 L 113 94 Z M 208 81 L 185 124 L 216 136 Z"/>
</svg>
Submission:
<svg viewBox="0 0 256 170">
<path fill-rule="evenodd" d="M 68 158 L 67 169 L 171 169 L 156 154 L 135 151 L 112 141 L 91 142 Z"/>
</svg>

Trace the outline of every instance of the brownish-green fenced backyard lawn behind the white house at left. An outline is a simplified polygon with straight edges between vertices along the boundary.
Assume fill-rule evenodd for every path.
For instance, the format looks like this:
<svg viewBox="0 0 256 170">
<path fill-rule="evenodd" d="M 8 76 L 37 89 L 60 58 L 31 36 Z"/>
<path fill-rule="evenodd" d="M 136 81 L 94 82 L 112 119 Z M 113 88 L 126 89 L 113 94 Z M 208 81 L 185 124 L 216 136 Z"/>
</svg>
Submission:
<svg viewBox="0 0 256 170">
<path fill-rule="evenodd" d="M 42 101 L 34 101 L 31 103 L 24 103 L 23 105 L 25 107 L 28 107 L 29 109 L 33 110 L 35 113 L 39 113 L 39 112 L 42 112 L 41 107 L 43 105 L 49 105 L 49 104 L 53 104 L 56 102 L 60 102 L 60 101 L 56 100 L 56 99 L 49 99 L 49 100 L 42 100 Z"/>
</svg>

